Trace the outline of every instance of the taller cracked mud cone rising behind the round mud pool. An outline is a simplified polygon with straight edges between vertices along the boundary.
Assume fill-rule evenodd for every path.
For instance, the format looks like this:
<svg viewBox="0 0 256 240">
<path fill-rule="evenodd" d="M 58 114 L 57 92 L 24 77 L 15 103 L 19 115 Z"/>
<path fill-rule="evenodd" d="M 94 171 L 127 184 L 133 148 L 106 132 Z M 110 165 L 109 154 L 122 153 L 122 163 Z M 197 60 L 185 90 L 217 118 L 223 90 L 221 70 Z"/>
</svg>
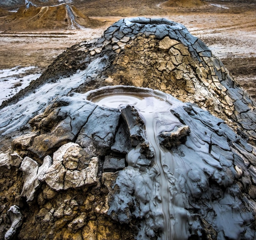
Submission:
<svg viewBox="0 0 256 240">
<path fill-rule="evenodd" d="M 230 76 L 222 62 L 181 24 L 168 20 L 120 20 L 95 42 L 81 42 L 62 53 L 42 74 L 2 108 L 43 84 L 87 71 L 96 61 L 97 75 L 71 91 L 124 84 L 150 87 L 198 104 L 227 120 L 241 136 L 255 141 L 255 102 Z M 90 67 L 89 67 L 90 69 Z M 72 88 L 71 88 L 72 89 Z"/>
</svg>

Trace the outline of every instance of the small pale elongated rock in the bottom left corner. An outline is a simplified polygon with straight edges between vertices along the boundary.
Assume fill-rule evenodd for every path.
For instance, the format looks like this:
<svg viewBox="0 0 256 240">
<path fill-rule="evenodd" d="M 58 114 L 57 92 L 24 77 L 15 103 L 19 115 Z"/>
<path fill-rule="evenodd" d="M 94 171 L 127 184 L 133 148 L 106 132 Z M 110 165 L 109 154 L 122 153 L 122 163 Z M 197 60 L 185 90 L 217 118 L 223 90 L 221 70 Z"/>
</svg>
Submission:
<svg viewBox="0 0 256 240">
<path fill-rule="evenodd" d="M 22 214 L 19 211 L 19 207 L 17 207 L 16 205 L 9 208 L 9 210 L 7 211 L 7 215 L 11 220 L 11 227 L 5 233 L 4 240 L 9 240 L 13 238 L 17 229 L 21 226 L 23 220 Z"/>
</svg>

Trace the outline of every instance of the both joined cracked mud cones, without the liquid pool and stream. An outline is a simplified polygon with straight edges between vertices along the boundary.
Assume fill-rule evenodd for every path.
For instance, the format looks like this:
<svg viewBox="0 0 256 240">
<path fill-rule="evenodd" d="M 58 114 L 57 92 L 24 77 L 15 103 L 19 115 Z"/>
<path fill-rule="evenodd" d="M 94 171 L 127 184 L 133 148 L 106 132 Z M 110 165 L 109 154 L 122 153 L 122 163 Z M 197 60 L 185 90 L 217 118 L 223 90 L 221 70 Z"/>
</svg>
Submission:
<svg viewBox="0 0 256 240">
<path fill-rule="evenodd" d="M 18 138 L 0 155 L 0 238 L 164 239 L 145 119 L 90 101 L 111 87 L 87 93 L 109 85 L 170 104 L 157 133 L 168 156 L 168 234 L 254 239 L 256 103 L 201 40 L 162 18 L 119 20 L 2 104 L 1 144 Z M 34 101 L 40 93 L 54 100 Z"/>
</svg>

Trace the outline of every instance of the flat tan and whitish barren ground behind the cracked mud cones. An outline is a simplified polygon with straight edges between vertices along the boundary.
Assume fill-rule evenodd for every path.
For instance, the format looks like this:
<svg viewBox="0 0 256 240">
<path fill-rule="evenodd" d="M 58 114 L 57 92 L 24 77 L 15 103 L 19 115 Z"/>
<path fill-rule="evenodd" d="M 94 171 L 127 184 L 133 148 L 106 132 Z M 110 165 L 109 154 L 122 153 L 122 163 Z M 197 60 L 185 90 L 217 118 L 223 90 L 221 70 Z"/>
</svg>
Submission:
<svg viewBox="0 0 256 240">
<path fill-rule="evenodd" d="M 95 29 L 0 32 L 0 69 L 36 66 L 42 72 L 61 52 L 83 40 L 101 36 L 120 18 L 130 16 L 164 17 L 184 24 L 203 40 L 225 64 L 242 87 L 256 98 L 256 1 L 206 1 L 200 9 L 165 7 L 155 1 L 76 1 L 85 15 L 105 22 Z M 147 6 L 143 7 L 141 6 Z M 1 25 L 0 25 L 1 31 Z"/>
</svg>

